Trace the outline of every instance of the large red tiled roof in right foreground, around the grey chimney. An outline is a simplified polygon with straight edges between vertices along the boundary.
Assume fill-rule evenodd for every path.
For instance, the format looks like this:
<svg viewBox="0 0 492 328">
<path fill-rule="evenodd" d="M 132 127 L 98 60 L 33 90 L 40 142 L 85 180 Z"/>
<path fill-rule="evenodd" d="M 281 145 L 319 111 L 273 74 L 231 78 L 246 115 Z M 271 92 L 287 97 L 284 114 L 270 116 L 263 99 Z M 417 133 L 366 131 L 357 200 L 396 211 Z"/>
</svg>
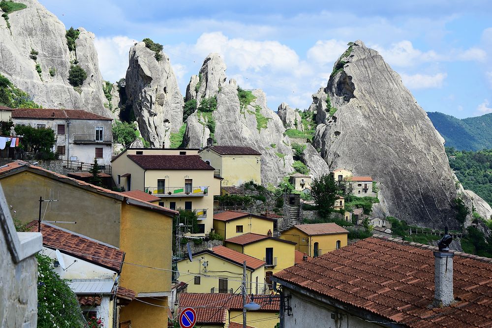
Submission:
<svg viewBox="0 0 492 328">
<path fill-rule="evenodd" d="M 492 259 L 455 252 L 456 303 L 429 308 L 437 247 L 368 238 L 274 276 L 402 327 L 490 327 Z M 393 240 L 393 239 L 391 239 Z"/>
</svg>

